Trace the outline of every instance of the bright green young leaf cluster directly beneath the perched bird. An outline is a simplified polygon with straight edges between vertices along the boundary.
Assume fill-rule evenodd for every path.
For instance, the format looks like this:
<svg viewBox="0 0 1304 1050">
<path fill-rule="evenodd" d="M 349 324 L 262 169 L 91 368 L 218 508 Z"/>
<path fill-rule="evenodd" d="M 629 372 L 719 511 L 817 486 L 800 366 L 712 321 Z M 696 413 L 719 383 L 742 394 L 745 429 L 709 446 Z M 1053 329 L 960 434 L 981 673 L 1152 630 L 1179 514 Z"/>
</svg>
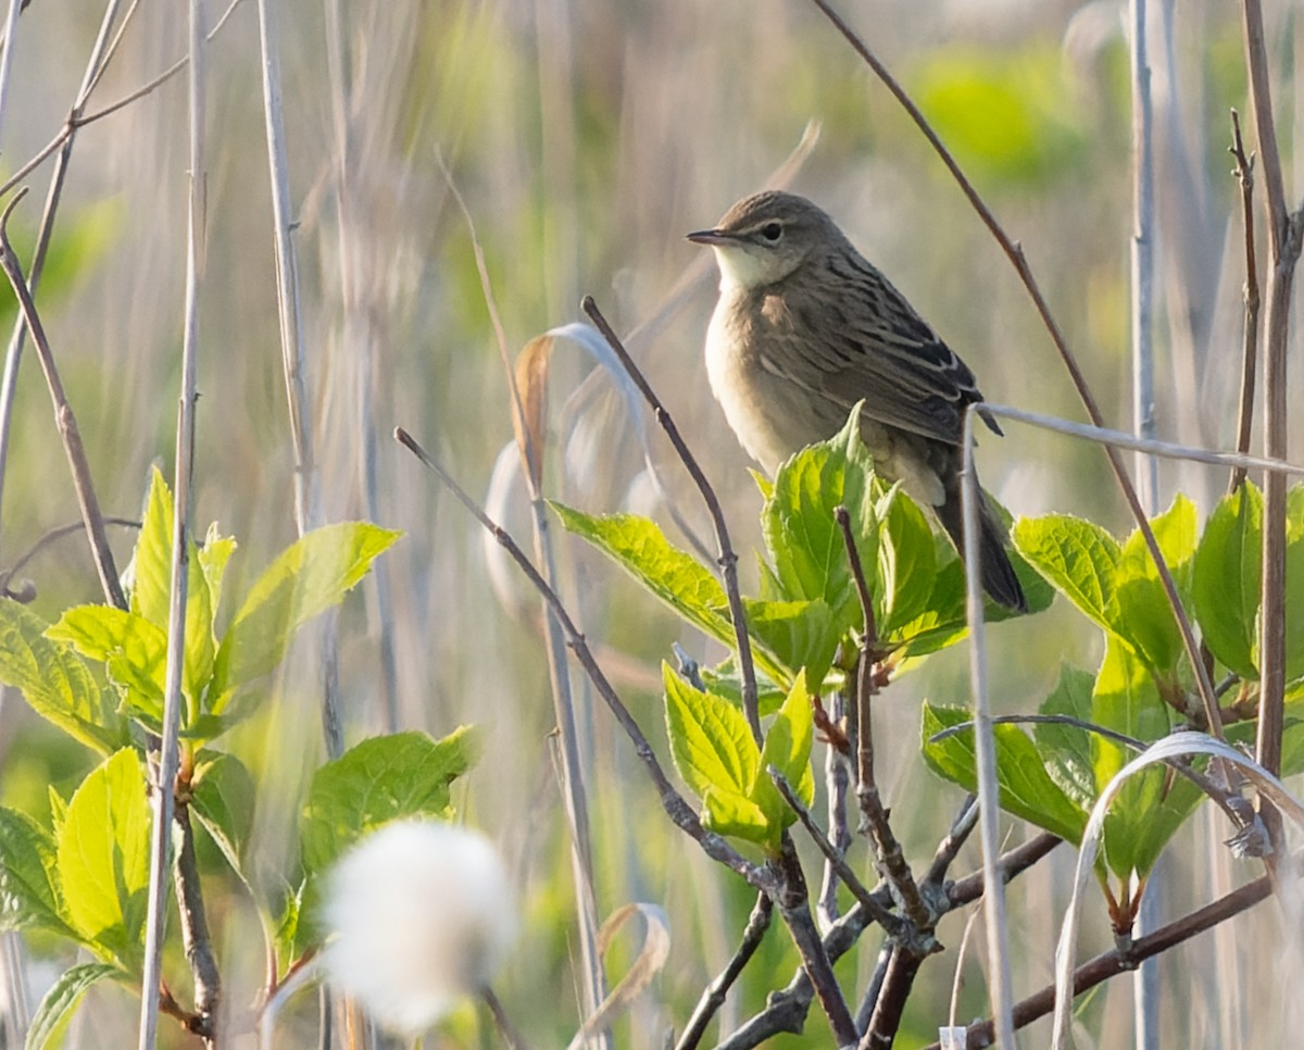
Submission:
<svg viewBox="0 0 1304 1050">
<path fill-rule="evenodd" d="M 857 651 L 865 613 L 835 510 L 845 507 L 872 601 L 875 653 L 889 670 L 965 634 L 965 577 L 955 548 L 900 487 L 887 485 L 859 436 L 859 412 L 828 441 L 785 462 L 764 497 L 759 593 L 743 599 L 747 631 L 762 673 L 762 713 L 773 713 L 758 745 L 739 710 L 733 659 L 702 673 L 705 690 L 666 669 L 670 749 L 703 802 L 703 823 L 724 835 L 777 848 L 794 819 L 767 772 L 773 767 L 810 801 L 810 695 L 837 689 L 840 650 Z M 682 620 L 725 646 L 734 643 L 728 601 L 716 574 L 673 547 L 651 520 L 589 517 L 554 505 L 562 523 L 615 560 Z M 1033 609 L 1050 588 L 1020 570 Z M 991 618 L 1008 616 L 996 605 Z M 805 708 L 805 710 L 803 710 Z M 777 713 L 776 713 L 777 711 Z"/>
</svg>

